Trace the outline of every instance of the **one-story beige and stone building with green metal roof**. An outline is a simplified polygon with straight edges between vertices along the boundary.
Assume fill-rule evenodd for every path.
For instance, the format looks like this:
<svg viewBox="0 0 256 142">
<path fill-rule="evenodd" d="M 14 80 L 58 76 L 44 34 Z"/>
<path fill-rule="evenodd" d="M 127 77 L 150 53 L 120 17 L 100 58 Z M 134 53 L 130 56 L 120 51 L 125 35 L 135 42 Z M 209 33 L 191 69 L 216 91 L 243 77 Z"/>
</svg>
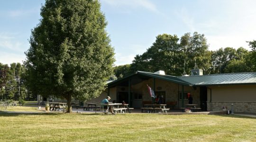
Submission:
<svg viewBox="0 0 256 142">
<path fill-rule="evenodd" d="M 148 93 L 148 85 L 156 98 L 163 96 L 164 103 L 174 105 L 173 108 L 184 107 L 191 95 L 193 104 L 203 111 L 219 111 L 222 107 L 231 109 L 233 104 L 234 112 L 256 113 L 256 72 L 202 75 L 201 69 L 195 69 L 191 74 L 170 76 L 164 71 L 137 71 L 109 82 L 106 91 L 88 102 L 99 104 L 110 96 L 110 101 L 125 101 L 129 107 L 140 108 L 145 102 L 156 103 Z"/>
</svg>

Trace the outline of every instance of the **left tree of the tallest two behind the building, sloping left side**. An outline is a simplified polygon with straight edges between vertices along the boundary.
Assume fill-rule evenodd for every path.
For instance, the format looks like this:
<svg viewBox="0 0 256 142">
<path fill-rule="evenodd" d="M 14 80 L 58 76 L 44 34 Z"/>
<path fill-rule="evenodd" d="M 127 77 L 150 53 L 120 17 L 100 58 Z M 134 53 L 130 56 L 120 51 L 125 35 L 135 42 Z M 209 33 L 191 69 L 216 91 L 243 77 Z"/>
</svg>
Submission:
<svg viewBox="0 0 256 142">
<path fill-rule="evenodd" d="M 150 72 L 164 70 L 168 74 L 174 74 L 180 55 L 178 41 L 177 35 L 156 36 L 155 42 L 145 53 L 136 55 L 131 70 Z"/>
</svg>

